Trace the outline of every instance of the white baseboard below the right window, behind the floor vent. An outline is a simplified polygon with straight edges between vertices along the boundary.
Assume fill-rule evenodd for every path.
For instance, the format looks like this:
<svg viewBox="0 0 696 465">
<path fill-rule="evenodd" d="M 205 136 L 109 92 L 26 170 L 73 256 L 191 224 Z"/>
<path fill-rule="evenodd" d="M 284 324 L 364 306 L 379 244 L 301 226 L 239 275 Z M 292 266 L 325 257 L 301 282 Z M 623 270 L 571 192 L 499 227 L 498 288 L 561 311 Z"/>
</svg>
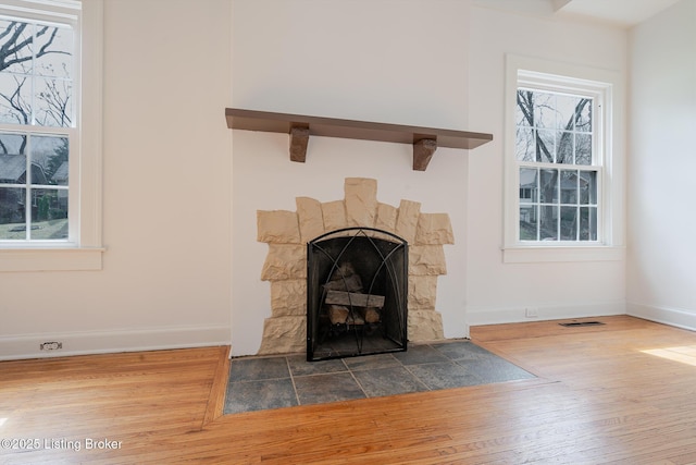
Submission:
<svg viewBox="0 0 696 465">
<path fill-rule="evenodd" d="M 527 310 L 535 317 L 527 317 Z M 567 318 L 587 318 L 610 315 L 625 315 L 625 303 L 593 302 L 585 304 L 539 304 L 525 307 L 468 307 L 467 323 L 469 327 L 481 325 L 517 323 L 524 321 L 560 320 Z"/>
</svg>

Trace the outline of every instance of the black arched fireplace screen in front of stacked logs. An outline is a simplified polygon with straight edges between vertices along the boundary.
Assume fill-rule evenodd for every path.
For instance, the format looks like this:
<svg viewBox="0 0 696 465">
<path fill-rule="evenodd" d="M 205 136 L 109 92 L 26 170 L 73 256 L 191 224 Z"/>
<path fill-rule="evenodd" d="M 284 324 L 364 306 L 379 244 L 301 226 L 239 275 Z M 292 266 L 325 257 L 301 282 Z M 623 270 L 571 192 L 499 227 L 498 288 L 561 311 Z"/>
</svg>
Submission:
<svg viewBox="0 0 696 465">
<path fill-rule="evenodd" d="M 307 359 L 407 350 L 408 243 L 346 228 L 307 245 Z"/>
</svg>

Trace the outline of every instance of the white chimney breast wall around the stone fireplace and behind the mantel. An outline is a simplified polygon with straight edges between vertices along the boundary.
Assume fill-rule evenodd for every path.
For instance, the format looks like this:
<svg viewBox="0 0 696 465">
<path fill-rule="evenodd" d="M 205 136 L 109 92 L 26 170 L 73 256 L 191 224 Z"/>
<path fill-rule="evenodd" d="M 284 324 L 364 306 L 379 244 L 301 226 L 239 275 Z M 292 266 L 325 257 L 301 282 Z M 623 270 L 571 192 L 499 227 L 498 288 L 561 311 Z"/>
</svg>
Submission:
<svg viewBox="0 0 696 465">
<path fill-rule="evenodd" d="M 234 106 L 485 131 L 467 124 L 468 3 L 235 0 Z M 415 172 L 407 145 L 314 137 L 307 162 L 293 163 L 287 135 L 234 131 L 233 140 L 233 353 L 256 353 L 271 315 L 256 211 L 295 211 L 298 196 L 340 200 L 349 176 L 376 179 L 380 201 L 449 213 L 456 244 L 445 246 L 437 309 L 448 336 L 464 334 L 467 151 L 440 148 Z"/>
</svg>

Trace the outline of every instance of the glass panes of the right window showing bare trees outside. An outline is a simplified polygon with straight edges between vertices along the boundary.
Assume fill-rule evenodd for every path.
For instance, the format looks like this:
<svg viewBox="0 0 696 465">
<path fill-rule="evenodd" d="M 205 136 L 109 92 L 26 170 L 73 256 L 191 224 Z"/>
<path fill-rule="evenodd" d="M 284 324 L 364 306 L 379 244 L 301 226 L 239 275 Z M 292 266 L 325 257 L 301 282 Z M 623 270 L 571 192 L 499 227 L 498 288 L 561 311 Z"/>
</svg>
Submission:
<svg viewBox="0 0 696 465">
<path fill-rule="evenodd" d="M 520 241 L 597 241 L 595 100 L 518 88 Z"/>
</svg>

